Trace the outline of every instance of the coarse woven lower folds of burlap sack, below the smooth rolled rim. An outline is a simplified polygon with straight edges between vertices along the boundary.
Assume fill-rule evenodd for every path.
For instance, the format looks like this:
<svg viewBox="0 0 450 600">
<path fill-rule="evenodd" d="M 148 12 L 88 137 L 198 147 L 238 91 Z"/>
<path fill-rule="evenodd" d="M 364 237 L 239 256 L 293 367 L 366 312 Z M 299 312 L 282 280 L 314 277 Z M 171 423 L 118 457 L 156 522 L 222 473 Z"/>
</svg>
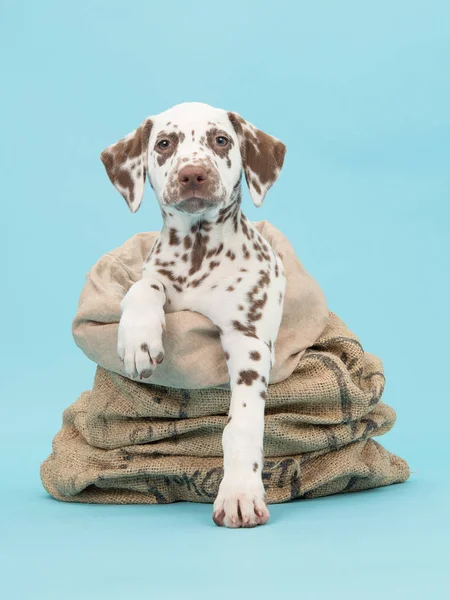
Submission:
<svg viewBox="0 0 450 600">
<path fill-rule="evenodd" d="M 194 368 L 194 367 L 193 367 Z M 393 426 L 381 361 L 333 313 L 289 377 L 269 386 L 263 481 L 269 503 L 405 481 L 406 462 L 372 438 Z M 98 366 L 41 466 L 58 500 L 213 502 L 230 392 L 138 383 Z"/>
</svg>

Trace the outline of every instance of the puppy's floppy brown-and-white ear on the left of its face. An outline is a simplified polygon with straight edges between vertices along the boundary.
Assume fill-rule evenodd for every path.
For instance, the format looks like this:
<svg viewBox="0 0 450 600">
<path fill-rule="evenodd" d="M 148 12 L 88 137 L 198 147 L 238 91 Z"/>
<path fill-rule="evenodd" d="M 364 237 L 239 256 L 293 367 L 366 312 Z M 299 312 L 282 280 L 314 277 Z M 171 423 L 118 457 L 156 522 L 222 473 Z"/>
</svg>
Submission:
<svg viewBox="0 0 450 600">
<path fill-rule="evenodd" d="M 144 195 L 147 175 L 148 140 L 152 120 L 145 121 L 101 153 L 108 177 L 127 201 L 131 212 L 136 212 Z"/>
</svg>

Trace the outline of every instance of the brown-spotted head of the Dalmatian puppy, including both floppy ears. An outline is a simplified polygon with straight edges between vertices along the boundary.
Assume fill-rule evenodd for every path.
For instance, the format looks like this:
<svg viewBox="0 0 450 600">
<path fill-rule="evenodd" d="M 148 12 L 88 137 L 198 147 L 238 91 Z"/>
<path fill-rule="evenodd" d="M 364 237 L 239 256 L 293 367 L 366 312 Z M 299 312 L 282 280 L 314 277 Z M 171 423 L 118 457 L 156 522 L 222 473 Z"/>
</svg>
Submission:
<svg viewBox="0 0 450 600">
<path fill-rule="evenodd" d="M 189 102 L 147 118 L 101 159 L 132 212 L 148 177 L 161 207 L 201 214 L 234 200 L 242 170 L 260 206 L 285 152 L 284 144 L 238 114 Z"/>
</svg>

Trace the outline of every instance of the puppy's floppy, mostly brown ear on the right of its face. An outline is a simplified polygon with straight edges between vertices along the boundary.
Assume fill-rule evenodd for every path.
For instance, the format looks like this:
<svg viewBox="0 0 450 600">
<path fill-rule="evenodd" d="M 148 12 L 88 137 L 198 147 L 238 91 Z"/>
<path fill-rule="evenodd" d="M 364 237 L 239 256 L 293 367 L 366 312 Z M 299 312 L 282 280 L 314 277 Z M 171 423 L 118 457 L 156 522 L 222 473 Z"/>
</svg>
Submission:
<svg viewBox="0 0 450 600">
<path fill-rule="evenodd" d="M 237 113 L 229 112 L 228 118 L 239 139 L 250 196 L 256 206 L 261 206 L 266 193 L 280 174 L 286 146 Z"/>
</svg>

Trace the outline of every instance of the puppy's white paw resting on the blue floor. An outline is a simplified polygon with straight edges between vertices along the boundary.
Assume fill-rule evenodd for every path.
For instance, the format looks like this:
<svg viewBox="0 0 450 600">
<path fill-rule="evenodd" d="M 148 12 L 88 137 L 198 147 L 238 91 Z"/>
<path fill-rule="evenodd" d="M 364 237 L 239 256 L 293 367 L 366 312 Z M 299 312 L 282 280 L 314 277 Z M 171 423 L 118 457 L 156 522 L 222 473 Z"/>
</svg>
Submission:
<svg viewBox="0 0 450 600">
<path fill-rule="evenodd" d="M 214 502 L 214 523 L 232 528 L 264 525 L 270 517 L 264 496 L 260 479 L 249 475 L 239 482 L 225 476 Z"/>
</svg>

